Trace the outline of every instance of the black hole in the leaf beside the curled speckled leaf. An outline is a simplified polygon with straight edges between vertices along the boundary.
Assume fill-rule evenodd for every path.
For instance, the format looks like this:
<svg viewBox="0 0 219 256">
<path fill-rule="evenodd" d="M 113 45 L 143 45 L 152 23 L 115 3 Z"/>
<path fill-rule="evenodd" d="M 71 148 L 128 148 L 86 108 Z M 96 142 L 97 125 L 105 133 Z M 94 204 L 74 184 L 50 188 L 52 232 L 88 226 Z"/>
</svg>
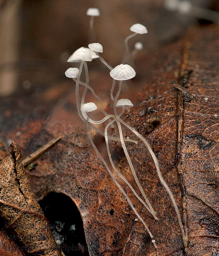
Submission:
<svg viewBox="0 0 219 256">
<path fill-rule="evenodd" d="M 80 212 L 70 197 L 51 192 L 39 201 L 51 232 L 66 256 L 88 256 Z"/>
</svg>

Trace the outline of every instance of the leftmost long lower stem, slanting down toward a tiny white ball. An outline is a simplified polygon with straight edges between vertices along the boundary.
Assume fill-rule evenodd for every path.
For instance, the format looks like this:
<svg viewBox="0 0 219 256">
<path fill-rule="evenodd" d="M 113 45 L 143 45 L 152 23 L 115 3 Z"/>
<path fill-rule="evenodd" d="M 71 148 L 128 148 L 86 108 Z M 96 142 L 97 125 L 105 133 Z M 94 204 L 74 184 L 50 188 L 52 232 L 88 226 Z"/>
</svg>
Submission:
<svg viewBox="0 0 219 256">
<path fill-rule="evenodd" d="M 97 155 L 100 157 L 101 161 L 103 162 L 104 166 L 106 167 L 106 169 L 108 170 L 108 173 L 110 174 L 110 177 L 112 178 L 112 180 L 115 182 L 115 184 L 117 185 L 117 187 L 120 189 L 120 191 L 123 193 L 124 197 L 126 198 L 128 204 L 131 206 L 132 210 L 134 211 L 135 215 L 137 215 L 137 217 L 141 220 L 141 222 L 143 223 L 143 225 L 145 226 L 145 229 L 147 230 L 147 232 L 149 233 L 149 236 L 151 238 L 153 238 L 153 235 L 151 234 L 151 231 L 149 230 L 148 226 L 146 225 L 146 223 L 143 221 L 142 217 L 139 215 L 139 213 L 137 212 L 137 210 L 135 209 L 134 205 L 132 204 L 130 198 L 128 197 L 128 195 L 126 194 L 126 192 L 124 191 L 124 189 L 121 187 L 121 185 L 118 183 L 118 181 L 116 180 L 116 178 L 114 177 L 114 175 L 112 174 L 109 166 L 107 165 L 107 163 L 105 162 L 104 158 L 102 157 L 102 155 L 100 154 L 99 150 L 97 149 L 96 145 L 93 143 L 93 140 L 91 138 L 90 132 L 89 132 L 89 125 L 87 123 L 87 129 L 88 129 L 88 136 L 89 139 L 91 141 L 91 144 L 94 148 L 94 150 L 96 151 Z"/>
</svg>

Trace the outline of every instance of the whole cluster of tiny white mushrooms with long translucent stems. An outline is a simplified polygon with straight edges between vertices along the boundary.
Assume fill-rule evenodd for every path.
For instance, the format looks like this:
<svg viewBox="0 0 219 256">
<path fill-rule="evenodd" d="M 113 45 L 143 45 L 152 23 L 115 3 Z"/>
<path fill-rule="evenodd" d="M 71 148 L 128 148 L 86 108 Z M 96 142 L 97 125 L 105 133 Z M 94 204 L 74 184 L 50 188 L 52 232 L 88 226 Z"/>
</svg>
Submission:
<svg viewBox="0 0 219 256">
<path fill-rule="evenodd" d="M 93 18 L 95 16 L 99 16 L 100 12 L 97 8 L 89 8 L 87 10 L 87 15 L 91 16 L 90 31 L 92 31 L 93 30 Z M 131 35 L 129 35 L 124 40 L 126 53 L 124 54 L 124 57 L 123 57 L 123 63 L 124 63 L 124 61 L 128 62 L 130 60 L 130 58 L 133 57 L 133 54 L 130 54 L 130 51 L 129 51 L 128 40 L 130 38 L 134 37 L 137 34 L 146 34 L 147 33 L 146 27 L 139 24 L 139 23 L 132 25 L 130 27 L 130 30 L 133 33 Z M 142 48 L 143 48 L 142 43 L 137 42 L 135 44 L 135 50 L 134 51 L 141 50 Z M 157 220 L 158 218 L 156 216 L 156 212 L 154 211 L 154 209 L 151 206 L 149 200 L 147 199 L 147 196 L 145 195 L 145 192 L 143 191 L 143 188 L 142 188 L 141 183 L 139 182 L 138 177 L 135 173 L 134 166 L 132 164 L 130 155 L 128 154 L 128 150 L 127 150 L 127 147 L 126 147 L 127 142 L 138 144 L 138 141 L 129 139 L 129 137 L 125 138 L 123 136 L 122 125 L 124 125 L 124 127 L 128 128 L 128 130 L 130 132 L 134 133 L 134 135 L 138 137 L 138 140 L 143 142 L 143 144 L 145 145 L 145 147 L 147 148 L 147 150 L 151 154 L 151 157 L 153 158 L 153 161 L 154 161 L 154 164 L 155 164 L 155 167 L 156 167 L 156 171 L 157 171 L 157 174 L 160 178 L 160 181 L 161 181 L 162 185 L 165 187 L 166 191 L 168 192 L 168 194 L 170 196 L 170 199 L 172 200 L 173 206 L 175 208 L 175 211 L 176 211 L 176 214 L 177 214 L 177 217 L 178 217 L 178 222 L 179 222 L 179 225 L 180 225 L 180 228 L 181 228 L 181 231 L 182 231 L 184 245 L 186 246 L 187 241 L 186 241 L 185 232 L 184 232 L 183 224 L 182 224 L 182 221 L 181 221 L 181 217 L 180 217 L 180 213 L 179 213 L 176 201 L 174 200 L 173 193 L 170 191 L 168 185 L 166 184 L 164 178 L 162 177 L 160 167 L 159 167 L 157 158 L 155 157 L 155 154 L 154 154 L 153 150 L 151 149 L 147 140 L 139 132 L 137 132 L 133 127 L 128 125 L 126 122 L 124 122 L 120 118 L 122 116 L 122 114 L 124 113 L 125 108 L 131 108 L 133 106 L 132 102 L 129 99 L 118 99 L 120 91 L 122 89 L 122 82 L 124 80 L 129 80 L 129 79 L 134 78 L 135 70 L 128 64 L 119 64 L 115 68 L 112 68 L 100 56 L 100 53 L 102 53 L 102 52 L 103 52 L 103 46 L 101 44 L 91 43 L 91 44 L 88 45 L 88 48 L 81 47 L 81 48 L 77 49 L 68 59 L 68 62 L 80 63 L 79 68 L 71 67 L 71 68 L 68 68 L 65 72 L 65 75 L 68 78 L 72 78 L 76 82 L 76 104 L 77 104 L 78 114 L 79 114 L 80 118 L 87 124 L 88 136 L 89 136 L 89 139 L 91 141 L 91 144 L 92 144 L 94 150 L 96 151 L 97 155 L 99 156 L 99 158 L 103 162 L 104 166 L 108 170 L 108 173 L 110 174 L 112 180 L 115 182 L 117 187 L 123 193 L 124 197 L 126 198 L 127 202 L 130 204 L 132 210 L 137 215 L 138 219 L 145 226 L 145 229 L 147 230 L 147 232 L 149 233 L 149 235 L 152 239 L 152 243 L 154 244 L 155 249 L 157 249 L 157 245 L 155 243 L 155 240 L 153 239 L 153 235 L 151 234 L 151 231 L 149 230 L 145 221 L 142 219 L 142 217 L 139 215 L 139 213 L 135 209 L 135 207 L 132 204 L 132 202 L 131 202 L 130 198 L 128 197 L 127 193 L 124 191 L 122 186 L 116 180 L 116 177 L 114 176 L 111 168 L 107 164 L 107 161 L 105 161 L 105 159 L 102 157 L 102 155 L 100 154 L 99 150 L 97 149 L 95 143 L 93 142 L 91 132 L 90 132 L 90 128 L 94 129 L 97 133 L 104 136 L 105 144 L 106 144 L 106 148 L 107 148 L 107 153 L 108 153 L 108 157 L 109 157 L 112 169 L 115 171 L 115 173 L 118 175 L 118 177 L 122 178 L 122 180 L 128 185 L 128 187 L 131 189 L 131 191 L 134 193 L 134 195 L 138 198 L 138 200 L 143 204 L 143 206 L 145 206 L 145 208 L 150 212 L 150 214 L 153 215 L 154 219 Z M 95 94 L 95 91 L 89 85 L 89 75 L 88 75 L 87 61 L 92 61 L 93 59 L 99 59 L 104 65 L 106 65 L 107 68 L 110 69 L 110 76 L 113 79 L 112 80 L 113 81 L 112 82 L 112 89 L 110 91 L 110 96 L 111 96 L 112 101 L 114 102 L 114 104 L 113 104 L 114 114 L 106 113 L 105 110 L 103 109 L 103 107 L 101 107 L 101 112 L 103 112 L 105 117 L 101 120 L 98 120 L 98 121 L 92 120 L 88 115 L 89 112 L 95 111 L 97 109 L 96 104 L 93 103 L 93 102 L 85 103 L 85 96 L 87 94 L 87 90 L 90 90 L 91 93 L 93 94 L 93 96 L 101 103 L 101 99 Z M 80 80 L 83 67 L 84 67 L 85 78 L 86 78 L 85 82 L 82 82 Z M 119 81 L 119 88 L 118 88 L 118 91 L 117 91 L 117 93 L 115 95 L 115 98 L 114 98 L 113 90 L 114 90 L 114 87 L 116 85 L 116 81 Z M 83 91 L 81 99 L 79 97 L 79 84 L 84 86 L 84 91 Z M 122 108 L 122 110 L 119 114 L 117 112 L 117 108 Z M 97 125 L 103 124 L 106 121 L 108 121 L 108 124 L 105 126 L 104 132 L 101 129 L 96 127 Z M 116 125 L 118 127 L 119 137 L 112 137 L 112 136 L 108 135 L 108 128 L 110 126 L 112 126 L 114 122 L 116 123 Z M 141 197 L 137 194 L 137 192 L 134 190 L 132 185 L 126 180 L 126 178 L 119 172 L 119 170 L 114 165 L 114 162 L 112 160 L 111 153 L 110 153 L 109 140 L 117 140 L 117 141 L 120 142 L 120 144 L 123 148 L 124 154 L 126 156 L 128 165 L 129 165 L 129 167 L 131 169 L 131 172 L 134 176 L 135 182 L 138 185 L 138 188 L 141 191 L 144 200 L 141 199 Z"/>
</svg>

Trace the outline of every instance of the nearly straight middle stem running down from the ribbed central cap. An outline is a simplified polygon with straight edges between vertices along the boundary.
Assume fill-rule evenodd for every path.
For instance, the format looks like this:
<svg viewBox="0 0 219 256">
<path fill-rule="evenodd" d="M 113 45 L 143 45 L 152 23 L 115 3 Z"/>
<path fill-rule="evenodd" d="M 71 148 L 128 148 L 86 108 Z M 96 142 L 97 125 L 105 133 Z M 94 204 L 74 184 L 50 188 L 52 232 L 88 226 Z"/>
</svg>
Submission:
<svg viewBox="0 0 219 256">
<path fill-rule="evenodd" d="M 115 99 L 114 99 L 114 113 L 115 113 L 115 116 L 116 116 L 117 118 L 119 118 L 119 120 L 122 120 L 122 119 L 118 116 L 118 114 L 117 114 L 117 112 L 116 112 L 116 102 L 117 102 L 117 100 L 118 100 L 118 97 L 119 97 L 119 94 L 120 94 L 121 89 L 122 89 L 122 81 L 119 82 L 119 89 L 118 89 L 118 92 L 117 92 L 116 97 L 115 97 Z M 131 172 L 132 172 L 132 174 L 133 174 L 133 176 L 134 176 L 135 182 L 136 182 L 136 184 L 138 185 L 138 188 L 140 189 L 140 191 L 141 191 L 141 193 L 142 193 L 142 195 L 143 195 L 143 197 L 144 197 L 146 203 L 148 204 L 149 208 L 150 208 L 151 211 L 153 212 L 153 215 L 156 215 L 156 212 L 154 211 L 153 207 L 151 206 L 149 200 L 147 199 L 147 196 L 145 195 L 145 192 L 143 191 L 143 188 L 142 188 L 142 186 L 141 186 L 141 184 L 140 184 L 140 182 L 139 182 L 139 180 L 138 180 L 138 177 L 137 177 L 137 175 L 136 175 L 136 173 L 135 173 L 134 166 L 132 165 L 130 156 L 129 156 L 128 151 L 127 151 L 127 148 L 126 148 L 126 144 L 124 143 L 124 140 L 123 140 L 122 127 L 121 127 L 121 125 L 120 125 L 119 122 L 118 122 L 117 124 L 118 124 L 119 136 L 120 136 L 120 141 L 121 141 L 121 144 L 122 144 L 122 148 L 123 148 L 124 154 L 125 154 L 125 156 L 126 156 L 126 159 L 127 159 L 127 161 L 128 161 L 128 164 L 129 164 L 129 166 L 130 166 L 130 168 L 131 168 Z M 155 217 L 155 219 L 157 219 L 157 217 Z"/>
</svg>

